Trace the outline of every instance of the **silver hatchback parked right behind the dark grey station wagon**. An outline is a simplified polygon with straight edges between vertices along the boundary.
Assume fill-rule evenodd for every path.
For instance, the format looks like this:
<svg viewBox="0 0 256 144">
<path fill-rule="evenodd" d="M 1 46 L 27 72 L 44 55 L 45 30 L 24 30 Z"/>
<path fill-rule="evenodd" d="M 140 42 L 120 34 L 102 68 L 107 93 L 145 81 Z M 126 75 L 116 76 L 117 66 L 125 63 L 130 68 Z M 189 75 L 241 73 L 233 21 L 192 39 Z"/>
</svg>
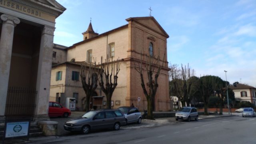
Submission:
<svg viewBox="0 0 256 144">
<path fill-rule="evenodd" d="M 142 116 L 137 108 L 122 106 L 118 108 L 118 110 L 121 110 L 124 113 L 126 124 L 129 124 L 132 122 L 137 122 L 138 124 L 141 123 Z"/>
</svg>

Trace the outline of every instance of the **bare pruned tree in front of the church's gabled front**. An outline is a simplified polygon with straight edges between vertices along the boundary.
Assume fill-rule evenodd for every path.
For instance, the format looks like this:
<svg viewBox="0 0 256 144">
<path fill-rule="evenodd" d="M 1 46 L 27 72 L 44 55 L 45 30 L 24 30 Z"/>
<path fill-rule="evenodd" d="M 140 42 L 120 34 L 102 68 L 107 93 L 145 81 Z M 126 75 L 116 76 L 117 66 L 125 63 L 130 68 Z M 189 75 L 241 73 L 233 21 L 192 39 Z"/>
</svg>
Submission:
<svg viewBox="0 0 256 144">
<path fill-rule="evenodd" d="M 143 89 L 143 93 L 146 97 L 148 102 L 148 112 L 147 112 L 147 119 L 154 119 L 153 117 L 153 110 L 154 110 L 154 100 L 156 96 L 156 91 L 158 88 L 158 76 L 160 74 L 160 70 L 164 65 L 164 58 L 162 60 L 162 64 L 160 65 L 160 56 L 159 56 L 159 49 L 158 49 L 158 56 L 155 58 L 153 55 L 145 55 L 146 61 L 142 60 L 143 54 L 140 54 L 140 62 L 136 64 L 134 63 L 135 70 L 140 74 L 141 86 Z M 145 85 L 144 82 L 144 72 L 147 74 L 147 82 Z M 154 76 L 154 78 L 153 78 Z"/>
</svg>

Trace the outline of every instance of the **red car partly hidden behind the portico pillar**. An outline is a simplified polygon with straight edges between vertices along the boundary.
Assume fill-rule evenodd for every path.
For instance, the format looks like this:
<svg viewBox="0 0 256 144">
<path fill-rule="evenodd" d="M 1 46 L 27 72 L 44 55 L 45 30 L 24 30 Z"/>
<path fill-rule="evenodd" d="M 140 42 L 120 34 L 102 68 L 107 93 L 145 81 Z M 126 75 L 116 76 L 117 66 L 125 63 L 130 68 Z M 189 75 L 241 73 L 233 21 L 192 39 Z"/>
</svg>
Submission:
<svg viewBox="0 0 256 144">
<path fill-rule="evenodd" d="M 63 107 L 58 102 L 49 102 L 48 116 L 63 116 L 66 118 L 70 116 L 70 114 L 70 109 Z"/>
</svg>

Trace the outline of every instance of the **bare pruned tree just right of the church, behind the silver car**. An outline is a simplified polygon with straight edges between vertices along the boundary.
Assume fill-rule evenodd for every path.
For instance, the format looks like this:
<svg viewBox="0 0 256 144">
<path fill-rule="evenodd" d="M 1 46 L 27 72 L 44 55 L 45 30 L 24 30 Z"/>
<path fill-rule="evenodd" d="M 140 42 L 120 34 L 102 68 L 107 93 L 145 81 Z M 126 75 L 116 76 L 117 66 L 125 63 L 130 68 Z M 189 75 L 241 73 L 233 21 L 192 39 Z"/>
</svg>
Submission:
<svg viewBox="0 0 256 144">
<path fill-rule="evenodd" d="M 169 72 L 170 78 L 172 79 L 172 83 L 174 86 L 174 92 L 179 99 L 179 102 L 182 103 L 182 106 L 186 104 L 190 104 L 190 96 L 191 93 L 191 86 L 193 82 L 195 82 L 192 77 L 194 76 L 194 70 L 189 68 L 188 66 L 179 68 L 177 64 L 173 64 L 170 66 Z"/>
</svg>

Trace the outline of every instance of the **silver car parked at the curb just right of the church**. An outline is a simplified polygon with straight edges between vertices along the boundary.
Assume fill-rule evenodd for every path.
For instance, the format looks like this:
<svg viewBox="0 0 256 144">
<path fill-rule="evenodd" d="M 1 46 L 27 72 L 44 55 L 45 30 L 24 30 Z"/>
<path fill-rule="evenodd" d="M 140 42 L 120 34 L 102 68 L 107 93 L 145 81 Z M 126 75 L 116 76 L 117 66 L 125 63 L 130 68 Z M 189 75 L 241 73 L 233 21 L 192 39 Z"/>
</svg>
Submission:
<svg viewBox="0 0 256 144">
<path fill-rule="evenodd" d="M 198 120 L 198 112 L 194 107 L 183 107 L 180 111 L 175 114 L 176 120 L 187 120 L 190 122 L 191 119 Z"/>
</svg>

